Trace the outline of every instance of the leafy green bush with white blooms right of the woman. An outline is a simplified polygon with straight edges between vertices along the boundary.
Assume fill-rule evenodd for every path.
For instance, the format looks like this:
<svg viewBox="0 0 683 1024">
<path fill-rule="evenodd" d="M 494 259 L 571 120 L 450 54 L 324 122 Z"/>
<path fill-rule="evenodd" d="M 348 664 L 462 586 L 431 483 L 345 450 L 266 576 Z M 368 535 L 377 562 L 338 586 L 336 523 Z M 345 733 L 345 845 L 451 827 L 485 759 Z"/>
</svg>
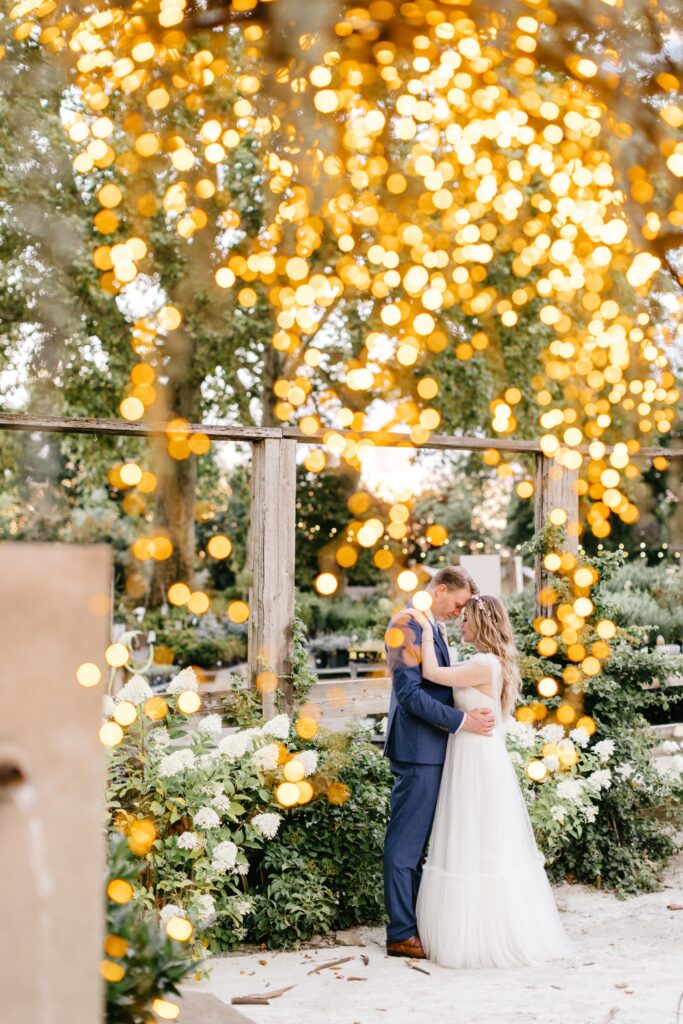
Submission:
<svg viewBox="0 0 683 1024">
<path fill-rule="evenodd" d="M 622 559 L 618 554 L 610 554 L 591 564 L 600 572 L 600 583 L 592 594 L 598 621 L 609 617 L 614 607 L 613 581 L 621 571 Z M 543 721 L 552 717 L 560 699 L 540 698 L 537 685 L 544 676 L 561 678 L 569 663 L 560 652 L 552 658 L 539 656 L 539 636 L 531 627 L 533 610 L 528 597 L 512 602 L 510 612 L 522 655 L 524 698 L 537 719 Z M 680 707 L 680 696 L 665 684 L 669 677 L 680 674 L 682 659 L 643 651 L 642 629 L 633 627 L 621 613 L 614 613 L 614 621 L 618 629 L 610 641 L 611 652 L 602 672 L 584 680 L 581 687 L 573 687 L 581 693 L 577 699 L 583 698 L 584 713 L 595 724 L 591 750 L 604 740 L 613 748 L 609 785 L 601 788 L 599 799 L 589 793 L 590 787 L 582 780 L 586 771 L 592 770 L 591 755 L 590 751 L 579 752 L 579 764 L 565 773 L 575 777 L 581 793 L 577 793 L 577 806 L 570 806 L 565 814 L 566 828 L 558 828 L 551 820 L 552 807 L 557 806 L 553 803 L 555 777 L 550 773 L 541 782 L 532 783 L 525 776 L 528 760 L 538 755 L 540 739 L 523 759 L 520 777 L 537 839 L 553 876 L 570 874 L 620 893 L 634 893 L 658 885 L 661 867 L 676 850 L 676 829 L 682 820 L 682 779 L 663 777 L 656 770 L 655 739 L 648 722 Z M 599 639 L 590 622 L 579 639 L 586 648 Z M 593 805 L 595 813 L 584 814 L 580 806 L 583 804 Z"/>
</svg>

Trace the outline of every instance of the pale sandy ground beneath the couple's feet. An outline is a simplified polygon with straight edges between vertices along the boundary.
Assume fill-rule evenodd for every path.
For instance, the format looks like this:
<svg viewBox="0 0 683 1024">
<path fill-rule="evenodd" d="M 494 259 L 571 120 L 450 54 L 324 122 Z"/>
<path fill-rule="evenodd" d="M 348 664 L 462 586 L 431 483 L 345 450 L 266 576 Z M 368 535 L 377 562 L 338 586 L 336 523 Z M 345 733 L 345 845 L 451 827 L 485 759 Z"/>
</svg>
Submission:
<svg viewBox="0 0 683 1024">
<path fill-rule="evenodd" d="M 217 957 L 211 978 L 191 987 L 229 1002 L 233 995 L 294 985 L 268 1006 L 239 1008 L 256 1024 L 683 1024 L 683 1012 L 676 1019 L 683 909 L 667 908 L 683 904 L 683 854 L 665 883 L 661 892 L 629 900 L 584 886 L 556 890 L 577 942 L 573 963 L 462 972 L 423 964 L 426 976 L 385 955 L 381 930 L 361 929 L 365 948 Z M 342 956 L 353 959 L 308 975 Z"/>
</svg>

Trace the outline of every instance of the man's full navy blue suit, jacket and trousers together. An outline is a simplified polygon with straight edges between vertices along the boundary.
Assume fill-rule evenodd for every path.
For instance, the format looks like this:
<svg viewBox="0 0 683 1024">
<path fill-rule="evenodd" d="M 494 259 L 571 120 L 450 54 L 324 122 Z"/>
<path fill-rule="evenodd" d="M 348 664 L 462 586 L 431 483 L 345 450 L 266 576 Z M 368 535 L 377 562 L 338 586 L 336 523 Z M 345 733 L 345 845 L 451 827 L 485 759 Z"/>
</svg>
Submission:
<svg viewBox="0 0 683 1024">
<path fill-rule="evenodd" d="M 394 615 L 389 629 L 401 630 L 403 643 L 387 646 L 391 701 L 384 753 L 391 761 L 394 785 L 384 841 L 384 900 L 387 941 L 400 942 L 417 934 L 415 905 L 449 734 L 458 731 L 465 715 L 454 708 L 451 687 L 422 678 L 422 628 L 408 609 Z M 434 649 L 438 665 L 451 664 L 437 629 Z"/>
</svg>

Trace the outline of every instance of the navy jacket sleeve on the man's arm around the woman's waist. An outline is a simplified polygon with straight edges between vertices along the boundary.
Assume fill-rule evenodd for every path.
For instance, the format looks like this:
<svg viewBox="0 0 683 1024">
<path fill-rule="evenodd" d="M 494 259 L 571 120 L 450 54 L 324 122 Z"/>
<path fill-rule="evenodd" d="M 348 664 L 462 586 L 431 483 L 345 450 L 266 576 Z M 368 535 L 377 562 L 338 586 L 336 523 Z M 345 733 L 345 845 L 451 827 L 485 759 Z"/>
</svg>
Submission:
<svg viewBox="0 0 683 1024">
<path fill-rule="evenodd" d="M 396 645 L 398 631 L 403 636 L 402 643 Z M 387 663 L 399 708 L 437 729 L 457 732 L 465 713 L 436 700 L 423 687 L 422 627 L 410 615 L 401 615 L 390 624 L 386 639 Z"/>
</svg>

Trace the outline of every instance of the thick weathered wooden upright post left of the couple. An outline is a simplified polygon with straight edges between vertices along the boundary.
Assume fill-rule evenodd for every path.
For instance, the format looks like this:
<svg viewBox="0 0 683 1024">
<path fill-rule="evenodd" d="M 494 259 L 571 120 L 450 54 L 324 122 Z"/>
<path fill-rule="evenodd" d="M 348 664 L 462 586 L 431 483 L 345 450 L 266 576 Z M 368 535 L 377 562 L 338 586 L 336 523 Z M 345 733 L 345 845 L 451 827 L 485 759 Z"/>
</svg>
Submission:
<svg viewBox="0 0 683 1024">
<path fill-rule="evenodd" d="M 285 438 L 257 440 L 252 449 L 249 674 L 262 693 L 264 718 L 278 712 L 278 686 L 285 706 L 291 703 L 296 450 Z"/>
</svg>

